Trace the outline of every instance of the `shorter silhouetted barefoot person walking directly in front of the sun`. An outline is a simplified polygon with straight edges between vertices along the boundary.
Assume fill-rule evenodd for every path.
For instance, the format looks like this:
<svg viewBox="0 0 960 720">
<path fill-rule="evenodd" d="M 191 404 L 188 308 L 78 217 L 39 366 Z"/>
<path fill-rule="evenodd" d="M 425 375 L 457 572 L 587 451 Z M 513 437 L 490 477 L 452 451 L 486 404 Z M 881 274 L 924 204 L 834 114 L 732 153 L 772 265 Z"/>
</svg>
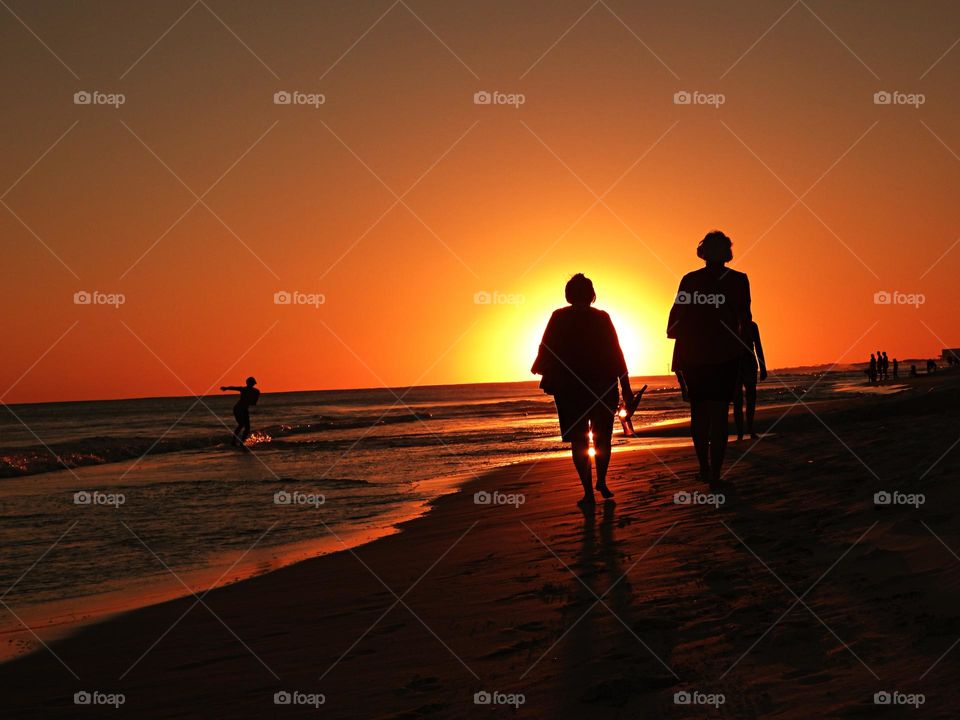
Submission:
<svg viewBox="0 0 960 720">
<path fill-rule="evenodd" d="M 627 364 L 610 316 L 591 307 L 597 294 L 593 282 L 577 273 L 564 289 L 567 307 L 555 310 L 540 341 L 531 371 L 542 375 L 540 387 L 553 395 L 560 420 L 560 435 L 570 443 L 573 464 L 583 485 L 581 507 L 596 503 L 591 484 L 590 434 L 597 466 L 597 490 L 613 497 L 607 487 L 613 417 L 623 401 L 634 400 Z"/>
</svg>

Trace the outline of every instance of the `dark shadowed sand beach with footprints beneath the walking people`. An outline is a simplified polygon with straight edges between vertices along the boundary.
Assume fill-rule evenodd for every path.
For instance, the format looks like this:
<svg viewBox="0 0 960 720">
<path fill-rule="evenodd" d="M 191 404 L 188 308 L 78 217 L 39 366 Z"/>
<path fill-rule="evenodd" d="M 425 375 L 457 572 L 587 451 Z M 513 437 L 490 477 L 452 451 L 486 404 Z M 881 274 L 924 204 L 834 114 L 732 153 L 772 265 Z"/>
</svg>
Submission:
<svg viewBox="0 0 960 720">
<path fill-rule="evenodd" d="M 708 491 L 688 448 L 616 454 L 586 514 L 568 459 L 497 470 L 397 535 L 6 664 L 4 717 L 956 717 L 960 375 L 904 384 L 767 410 L 716 507 L 675 502 Z"/>
</svg>

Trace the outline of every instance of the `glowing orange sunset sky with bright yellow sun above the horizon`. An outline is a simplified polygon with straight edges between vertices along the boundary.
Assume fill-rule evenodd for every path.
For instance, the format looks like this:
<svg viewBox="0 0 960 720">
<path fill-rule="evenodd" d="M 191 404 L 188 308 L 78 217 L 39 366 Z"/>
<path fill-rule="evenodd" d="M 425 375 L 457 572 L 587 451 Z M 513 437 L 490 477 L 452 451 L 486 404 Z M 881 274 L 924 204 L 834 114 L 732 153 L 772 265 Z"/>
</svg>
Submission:
<svg viewBox="0 0 960 720">
<path fill-rule="evenodd" d="M 773 367 L 960 345 L 955 3 L 8 4 L 4 402 L 531 379 L 578 271 L 661 374 L 713 228 Z"/>
</svg>

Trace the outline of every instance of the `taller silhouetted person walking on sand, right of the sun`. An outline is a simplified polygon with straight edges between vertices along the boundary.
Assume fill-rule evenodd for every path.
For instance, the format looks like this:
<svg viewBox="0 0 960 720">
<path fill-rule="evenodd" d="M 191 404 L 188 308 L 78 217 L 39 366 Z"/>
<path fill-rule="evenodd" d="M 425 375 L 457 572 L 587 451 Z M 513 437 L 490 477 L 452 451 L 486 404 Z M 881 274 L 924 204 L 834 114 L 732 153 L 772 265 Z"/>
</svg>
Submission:
<svg viewBox="0 0 960 720">
<path fill-rule="evenodd" d="M 680 280 L 667 337 L 676 340 L 674 370 L 683 375 L 690 397 L 690 431 L 700 464 L 699 477 L 718 483 L 727 448 L 727 417 L 745 349 L 750 281 L 726 268 L 733 243 L 719 230 L 697 246 L 704 267 Z"/>
</svg>

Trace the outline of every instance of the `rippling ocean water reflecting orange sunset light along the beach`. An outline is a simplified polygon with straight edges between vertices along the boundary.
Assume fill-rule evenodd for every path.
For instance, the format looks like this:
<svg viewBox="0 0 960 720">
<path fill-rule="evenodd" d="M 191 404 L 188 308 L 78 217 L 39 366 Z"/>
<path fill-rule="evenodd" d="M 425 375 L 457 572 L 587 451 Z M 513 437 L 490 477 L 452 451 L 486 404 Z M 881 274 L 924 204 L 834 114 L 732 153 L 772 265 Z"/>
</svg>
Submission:
<svg viewBox="0 0 960 720">
<path fill-rule="evenodd" d="M 760 402 L 859 382 L 817 377 L 780 376 Z M 644 382 L 637 427 L 687 416 L 672 376 Z M 367 542 L 479 473 L 566 452 L 535 383 L 267 392 L 249 452 L 229 446 L 235 398 L 7 408 L 0 637 Z M 615 431 L 616 446 L 644 442 Z"/>
</svg>

